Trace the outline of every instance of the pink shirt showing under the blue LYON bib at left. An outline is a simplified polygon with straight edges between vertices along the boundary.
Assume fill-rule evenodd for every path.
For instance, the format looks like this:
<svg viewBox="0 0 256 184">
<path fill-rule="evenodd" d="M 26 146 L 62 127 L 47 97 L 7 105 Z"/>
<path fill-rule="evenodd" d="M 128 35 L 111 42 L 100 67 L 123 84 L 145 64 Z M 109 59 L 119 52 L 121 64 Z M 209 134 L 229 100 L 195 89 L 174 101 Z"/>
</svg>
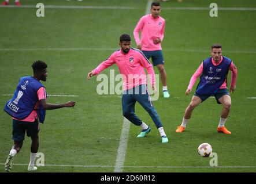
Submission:
<svg viewBox="0 0 256 184">
<path fill-rule="evenodd" d="M 36 102 L 36 105 L 34 106 L 34 109 L 38 109 L 38 106 L 39 106 L 39 101 L 41 99 L 46 99 L 46 91 L 45 91 L 45 88 L 44 87 L 40 87 L 39 90 L 38 90 L 38 102 Z M 38 113 L 36 112 L 36 110 L 33 110 L 29 115 L 28 117 L 26 117 L 25 119 L 23 120 L 19 120 L 19 121 L 28 121 L 28 122 L 34 122 L 35 119 L 38 118 Z M 14 120 L 18 120 L 16 118 L 13 117 Z"/>
</svg>

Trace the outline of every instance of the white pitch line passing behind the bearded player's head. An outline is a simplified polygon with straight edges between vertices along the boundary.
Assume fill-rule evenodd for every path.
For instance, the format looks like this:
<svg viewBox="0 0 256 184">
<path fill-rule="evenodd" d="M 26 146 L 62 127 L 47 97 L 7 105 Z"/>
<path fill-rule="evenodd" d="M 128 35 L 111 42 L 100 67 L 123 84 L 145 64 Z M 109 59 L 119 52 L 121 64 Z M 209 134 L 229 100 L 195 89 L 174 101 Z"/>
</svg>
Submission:
<svg viewBox="0 0 256 184">
<path fill-rule="evenodd" d="M 115 51 L 118 48 L 0 48 L 1 51 Z M 167 52 L 209 52 L 205 49 L 162 49 Z M 233 50 L 224 52 L 228 53 L 256 53 L 256 51 L 239 51 Z"/>
</svg>

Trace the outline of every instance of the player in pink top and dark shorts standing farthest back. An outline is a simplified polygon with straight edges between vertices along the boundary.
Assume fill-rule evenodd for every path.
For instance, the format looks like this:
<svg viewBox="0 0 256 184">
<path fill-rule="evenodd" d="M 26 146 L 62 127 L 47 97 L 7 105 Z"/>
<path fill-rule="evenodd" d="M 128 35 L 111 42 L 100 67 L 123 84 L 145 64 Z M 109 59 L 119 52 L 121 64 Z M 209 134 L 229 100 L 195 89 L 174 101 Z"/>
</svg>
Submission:
<svg viewBox="0 0 256 184">
<path fill-rule="evenodd" d="M 140 18 L 138 24 L 133 30 L 137 48 L 142 50 L 147 59 L 152 59 L 153 65 L 157 66 L 161 81 L 162 91 L 165 98 L 169 98 L 170 94 L 167 89 L 166 72 L 164 67 L 164 56 L 162 55 L 161 42 L 164 39 L 165 20 L 159 16 L 161 11 L 160 3 L 153 2 L 151 4 L 151 14 Z M 139 32 L 141 31 L 141 40 Z"/>
</svg>

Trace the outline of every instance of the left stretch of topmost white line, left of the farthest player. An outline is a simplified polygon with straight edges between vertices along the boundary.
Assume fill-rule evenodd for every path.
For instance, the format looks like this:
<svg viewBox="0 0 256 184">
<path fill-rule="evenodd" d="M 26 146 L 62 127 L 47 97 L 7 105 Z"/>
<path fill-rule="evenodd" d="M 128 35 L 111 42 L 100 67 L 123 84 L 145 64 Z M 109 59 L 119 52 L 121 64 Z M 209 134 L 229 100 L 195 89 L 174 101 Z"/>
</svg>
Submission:
<svg viewBox="0 0 256 184">
<path fill-rule="evenodd" d="M 1 6 L 0 7 L 17 7 L 17 8 L 36 8 L 36 5 L 8 5 L 8 6 Z M 45 9 L 104 9 L 104 10 L 133 10 L 136 7 L 129 7 L 129 6 L 68 6 L 68 5 L 44 5 Z"/>
</svg>

